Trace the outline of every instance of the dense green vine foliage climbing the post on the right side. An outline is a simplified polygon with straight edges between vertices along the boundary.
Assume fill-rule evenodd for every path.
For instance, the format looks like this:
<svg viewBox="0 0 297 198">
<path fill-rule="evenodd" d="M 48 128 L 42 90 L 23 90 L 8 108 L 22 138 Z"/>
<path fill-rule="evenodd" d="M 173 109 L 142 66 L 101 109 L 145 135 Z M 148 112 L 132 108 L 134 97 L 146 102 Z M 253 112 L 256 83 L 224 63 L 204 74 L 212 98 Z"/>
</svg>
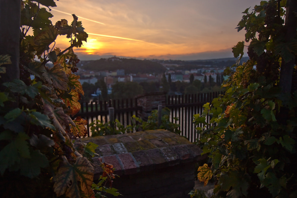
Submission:
<svg viewBox="0 0 297 198">
<path fill-rule="evenodd" d="M 283 91 L 280 79 L 280 68 L 297 55 L 296 39 L 285 38 L 285 3 L 261 1 L 243 12 L 238 31 L 245 28 L 251 40 L 250 60 L 237 66 L 225 95 L 194 115 L 212 163 L 199 167 L 198 179 L 206 184 L 213 175 L 214 197 L 297 197 L 297 91 Z M 243 47 L 233 47 L 235 57 Z"/>
</svg>

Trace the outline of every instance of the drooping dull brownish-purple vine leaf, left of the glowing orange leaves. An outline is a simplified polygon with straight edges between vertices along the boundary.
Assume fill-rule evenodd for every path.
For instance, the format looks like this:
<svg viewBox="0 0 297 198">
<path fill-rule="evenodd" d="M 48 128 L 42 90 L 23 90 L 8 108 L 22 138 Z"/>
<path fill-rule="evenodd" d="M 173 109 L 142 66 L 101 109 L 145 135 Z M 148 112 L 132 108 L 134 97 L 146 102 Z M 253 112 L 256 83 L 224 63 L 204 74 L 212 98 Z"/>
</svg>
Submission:
<svg viewBox="0 0 297 198">
<path fill-rule="evenodd" d="M 66 91 L 68 88 L 68 77 L 61 69 L 61 65 L 57 64 L 42 76 L 45 77 L 46 81 L 49 84 L 52 84 L 54 88 L 59 88 L 63 91 Z"/>
</svg>

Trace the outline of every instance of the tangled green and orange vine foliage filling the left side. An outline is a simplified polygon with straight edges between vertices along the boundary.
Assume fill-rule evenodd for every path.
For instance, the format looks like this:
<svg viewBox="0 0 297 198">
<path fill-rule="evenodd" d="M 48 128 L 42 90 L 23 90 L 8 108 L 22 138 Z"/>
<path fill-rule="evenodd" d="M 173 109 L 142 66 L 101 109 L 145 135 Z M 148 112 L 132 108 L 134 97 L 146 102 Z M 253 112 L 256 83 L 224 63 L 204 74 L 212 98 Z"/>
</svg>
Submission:
<svg viewBox="0 0 297 198">
<path fill-rule="evenodd" d="M 81 47 L 88 34 L 75 15 L 70 25 L 65 19 L 53 25 L 53 15 L 40 8 L 41 4 L 55 7 L 53 0 L 21 3 L 20 66 L 16 68 L 20 78 L 3 83 L 6 89 L 0 92 L 1 196 L 104 197 L 104 191 L 118 195 L 111 188 L 98 189 L 104 183 L 93 184 L 91 158 L 97 145 L 74 145 L 72 140 L 87 134 L 86 121 L 70 116 L 80 110 L 78 100 L 84 94 L 74 74 L 79 59 L 73 47 Z M 29 29 L 33 35 L 28 35 Z M 58 35 L 69 39 L 67 49 L 54 48 Z M 49 61 L 51 68 L 45 66 Z M 0 55 L 2 76 L 5 66 L 14 66 L 9 64 L 10 57 Z M 105 173 L 101 180 L 111 183 L 113 169 L 101 166 Z"/>
</svg>

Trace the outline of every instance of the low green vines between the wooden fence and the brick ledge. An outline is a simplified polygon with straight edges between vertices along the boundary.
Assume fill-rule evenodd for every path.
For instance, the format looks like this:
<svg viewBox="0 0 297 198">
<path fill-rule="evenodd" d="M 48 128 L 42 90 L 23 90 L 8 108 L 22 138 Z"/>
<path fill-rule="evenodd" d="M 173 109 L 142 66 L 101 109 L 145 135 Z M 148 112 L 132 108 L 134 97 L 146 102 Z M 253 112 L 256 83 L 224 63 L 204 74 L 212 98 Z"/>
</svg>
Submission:
<svg viewBox="0 0 297 198">
<path fill-rule="evenodd" d="M 156 130 L 165 129 L 170 132 L 180 134 L 181 131 L 178 129 L 179 124 L 172 123 L 169 120 L 170 110 L 168 108 L 162 109 L 161 124 L 158 124 L 158 111 L 153 110 L 151 115 L 148 117 L 148 121 L 143 121 L 141 118 L 133 115 L 131 117 L 132 125 L 124 127 L 117 119 L 115 122 L 101 123 L 100 120 L 93 121 L 90 123 L 92 136 L 102 136 L 102 135 L 114 135 L 121 133 L 129 133 L 134 131 L 146 131 L 146 130 Z M 178 118 L 173 118 L 178 120 Z"/>
</svg>

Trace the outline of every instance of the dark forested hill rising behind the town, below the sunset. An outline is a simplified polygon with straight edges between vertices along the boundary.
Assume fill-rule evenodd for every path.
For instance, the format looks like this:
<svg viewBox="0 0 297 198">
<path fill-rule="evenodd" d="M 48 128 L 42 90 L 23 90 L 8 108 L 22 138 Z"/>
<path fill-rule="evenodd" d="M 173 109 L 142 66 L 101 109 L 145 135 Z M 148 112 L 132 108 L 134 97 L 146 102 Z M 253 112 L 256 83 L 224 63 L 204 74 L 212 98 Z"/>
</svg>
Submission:
<svg viewBox="0 0 297 198">
<path fill-rule="evenodd" d="M 125 74 L 137 73 L 164 73 L 166 68 L 160 63 L 149 60 L 118 58 L 113 60 L 111 58 L 101 58 L 97 61 L 81 61 L 80 68 L 93 71 L 114 71 L 117 69 L 124 69 Z"/>
</svg>

